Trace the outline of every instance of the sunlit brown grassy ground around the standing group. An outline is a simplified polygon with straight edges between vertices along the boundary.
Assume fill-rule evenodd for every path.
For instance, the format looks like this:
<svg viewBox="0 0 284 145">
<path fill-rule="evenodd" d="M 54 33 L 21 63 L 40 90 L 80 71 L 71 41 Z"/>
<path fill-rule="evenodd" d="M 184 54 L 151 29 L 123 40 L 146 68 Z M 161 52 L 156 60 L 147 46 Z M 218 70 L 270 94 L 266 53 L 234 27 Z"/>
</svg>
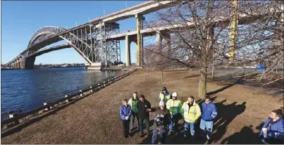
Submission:
<svg viewBox="0 0 284 145">
<path fill-rule="evenodd" d="M 150 76 L 147 70 L 140 69 L 66 108 L 22 125 L 13 130 L 13 134 L 4 135 L 6 137 L 2 134 L 1 144 L 149 144 L 151 139 L 140 138 L 137 132 L 128 139 L 123 138 L 119 117 L 121 99 L 129 99 L 132 92 L 137 91 L 138 95 L 144 94 L 152 106 L 158 106 L 159 92 L 167 87 L 169 92 L 178 92 L 178 99 L 186 100 L 187 96 L 197 96 L 198 81 L 199 75 L 193 71 L 165 72 L 164 82 L 161 82 L 160 72 Z M 283 97 L 242 84 L 209 81 L 207 92 L 218 109 L 212 144 L 260 144 L 259 125 L 270 111 L 283 109 Z M 183 127 L 179 134 L 166 140 L 166 144 L 204 143 L 206 141 L 184 140 Z"/>
</svg>

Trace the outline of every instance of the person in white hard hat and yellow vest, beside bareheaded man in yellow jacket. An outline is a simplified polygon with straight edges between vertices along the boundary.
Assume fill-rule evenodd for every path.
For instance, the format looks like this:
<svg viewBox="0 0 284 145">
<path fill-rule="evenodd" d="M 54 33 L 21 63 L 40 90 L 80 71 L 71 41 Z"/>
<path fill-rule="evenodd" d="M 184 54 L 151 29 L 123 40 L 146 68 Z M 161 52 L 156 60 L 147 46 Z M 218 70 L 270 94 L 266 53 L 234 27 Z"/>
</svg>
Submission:
<svg viewBox="0 0 284 145">
<path fill-rule="evenodd" d="M 171 123 L 170 126 L 168 127 L 169 129 L 168 134 L 171 134 L 173 132 L 173 122 L 175 122 L 175 132 L 178 131 L 178 120 L 180 118 L 180 108 L 182 107 L 181 101 L 177 99 L 178 94 L 176 92 L 173 92 L 172 97 L 173 99 L 169 99 L 166 102 L 166 108 L 171 113 Z"/>
</svg>

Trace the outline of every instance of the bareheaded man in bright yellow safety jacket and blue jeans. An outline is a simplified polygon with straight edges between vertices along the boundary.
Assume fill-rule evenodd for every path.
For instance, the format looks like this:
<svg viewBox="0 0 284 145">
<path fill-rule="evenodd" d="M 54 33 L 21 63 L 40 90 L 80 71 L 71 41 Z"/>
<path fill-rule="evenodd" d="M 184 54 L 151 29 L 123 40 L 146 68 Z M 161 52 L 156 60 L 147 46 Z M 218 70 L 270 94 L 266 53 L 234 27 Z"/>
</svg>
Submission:
<svg viewBox="0 0 284 145">
<path fill-rule="evenodd" d="M 188 127 L 190 127 L 191 136 L 195 138 L 195 124 L 197 119 L 201 116 L 201 110 L 193 96 L 189 96 L 187 101 L 183 103 L 183 107 L 180 109 L 180 112 L 185 120 L 185 139 L 187 137 Z"/>
</svg>

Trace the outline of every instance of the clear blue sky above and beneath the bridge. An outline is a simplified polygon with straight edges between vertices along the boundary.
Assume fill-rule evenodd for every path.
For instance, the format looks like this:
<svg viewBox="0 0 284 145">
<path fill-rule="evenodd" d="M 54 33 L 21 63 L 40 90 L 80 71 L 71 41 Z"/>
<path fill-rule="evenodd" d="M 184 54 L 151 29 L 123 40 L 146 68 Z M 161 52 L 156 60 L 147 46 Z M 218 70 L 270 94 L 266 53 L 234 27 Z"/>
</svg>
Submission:
<svg viewBox="0 0 284 145">
<path fill-rule="evenodd" d="M 27 48 L 32 35 L 44 26 L 71 28 L 144 1 L 1 1 L 1 63 L 8 63 Z M 152 20 L 152 13 L 144 15 Z M 135 30 L 135 18 L 118 21 L 120 31 Z M 136 45 L 131 44 L 131 61 L 136 61 Z M 125 62 L 125 41 L 121 41 L 121 61 Z M 87 63 L 73 48 L 37 56 L 39 63 Z"/>
</svg>

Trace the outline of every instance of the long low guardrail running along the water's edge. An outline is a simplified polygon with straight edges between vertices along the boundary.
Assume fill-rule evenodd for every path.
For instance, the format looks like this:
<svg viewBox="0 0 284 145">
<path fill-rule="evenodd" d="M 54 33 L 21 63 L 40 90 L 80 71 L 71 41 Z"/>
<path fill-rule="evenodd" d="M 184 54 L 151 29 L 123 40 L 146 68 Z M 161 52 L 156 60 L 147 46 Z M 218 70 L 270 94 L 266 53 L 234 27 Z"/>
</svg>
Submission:
<svg viewBox="0 0 284 145">
<path fill-rule="evenodd" d="M 58 101 L 54 101 L 54 102 L 44 103 L 44 106 L 39 107 L 39 108 L 35 108 L 32 111 L 28 111 L 26 113 L 21 113 L 21 114 L 15 115 L 15 116 L 9 115 L 9 118 L 7 120 L 1 121 L 1 129 L 5 125 L 15 126 L 15 125 L 18 125 L 22 122 L 25 122 L 26 120 L 21 120 L 21 119 L 26 118 L 27 116 L 32 115 L 32 117 L 34 117 L 35 113 L 37 113 L 37 115 L 40 115 L 44 112 L 53 110 L 54 108 L 60 106 L 61 104 L 73 102 L 75 100 L 83 98 L 84 96 L 87 96 L 87 95 L 92 94 L 94 92 L 98 92 L 100 89 L 108 86 L 109 84 L 112 84 L 113 82 L 121 80 L 123 77 L 130 75 L 131 73 L 135 72 L 136 70 L 137 70 L 137 68 L 131 69 L 127 73 L 123 73 L 121 75 L 116 75 L 116 76 L 113 76 L 113 77 L 107 77 L 104 80 L 100 80 L 94 86 L 89 87 L 89 89 L 79 90 L 79 92 L 75 93 L 75 94 L 70 94 L 70 95 L 67 94 L 65 96 L 65 98 L 63 98 L 63 99 L 59 99 Z"/>
</svg>

